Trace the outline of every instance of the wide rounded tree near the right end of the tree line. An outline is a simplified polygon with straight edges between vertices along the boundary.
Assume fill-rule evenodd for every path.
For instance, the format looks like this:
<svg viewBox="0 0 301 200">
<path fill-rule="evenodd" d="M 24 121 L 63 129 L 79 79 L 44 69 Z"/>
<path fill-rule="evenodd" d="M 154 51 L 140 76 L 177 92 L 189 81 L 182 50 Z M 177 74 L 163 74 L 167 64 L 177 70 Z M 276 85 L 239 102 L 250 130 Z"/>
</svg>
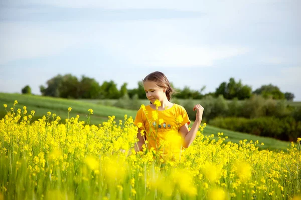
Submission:
<svg viewBox="0 0 301 200">
<path fill-rule="evenodd" d="M 260 94 L 264 98 L 271 96 L 273 99 L 284 99 L 284 93 L 280 91 L 279 87 L 272 84 L 262 85 L 260 88 L 253 91 L 253 93 Z"/>
</svg>

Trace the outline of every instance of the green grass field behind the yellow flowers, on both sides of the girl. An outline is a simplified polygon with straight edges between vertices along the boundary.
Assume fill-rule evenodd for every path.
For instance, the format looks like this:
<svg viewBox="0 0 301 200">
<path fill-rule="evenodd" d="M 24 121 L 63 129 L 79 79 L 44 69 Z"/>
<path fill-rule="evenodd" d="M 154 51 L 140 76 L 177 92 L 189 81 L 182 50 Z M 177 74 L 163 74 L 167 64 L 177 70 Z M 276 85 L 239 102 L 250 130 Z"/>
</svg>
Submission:
<svg viewBox="0 0 301 200">
<path fill-rule="evenodd" d="M 108 119 L 108 116 L 115 115 L 116 119 L 123 119 L 124 114 L 128 116 L 135 117 L 136 110 L 121 109 L 113 106 L 105 106 L 100 103 L 100 100 L 71 100 L 64 98 L 54 98 L 46 96 L 37 96 L 37 95 L 22 95 L 16 93 L 0 93 L 0 105 L 4 103 L 8 104 L 8 109 L 13 106 L 14 100 L 18 100 L 16 108 L 21 108 L 25 105 L 27 110 L 35 110 L 36 114 L 34 119 L 41 118 L 43 115 L 46 115 L 48 111 L 56 113 L 61 116 L 62 121 L 68 117 L 68 107 L 72 107 L 70 116 L 80 115 L 80 120 L 87 121 L 86 115 L 89 113 L 88 109 L 92 108 L 94 110 L 93 115 L 91 115 L 91 123 L 99 124 Z M 112 100 L 113 101 L 113 100 Z M 147 104 L 147 100 L 141 101 L 144 104 Z M 6 114 L 4 107 L 0 108 L 0 118 L 3 118 Z M 239 142 L 239 140 L 248 139 L 256 141 L 259 140 L 259 144 L 264 142 L 263 148 L 273 149 L 273 150 L 285 150 L 289 142 L 280 141 L 274 138 L 262 137 L 251 135 L 247 133 L 235 132 L 231 130 L 226 130 L 222 128 L 217 128 L 214 126 L 207 125 L 204 130 L 204 134 L 210 135 L 214 134 L 217 138 L 217 133 L 223 132 L 224 136 L 229 138 L 226 141 Z M 261 148 L 261 147 L 260 147 Z"/>
</svg>

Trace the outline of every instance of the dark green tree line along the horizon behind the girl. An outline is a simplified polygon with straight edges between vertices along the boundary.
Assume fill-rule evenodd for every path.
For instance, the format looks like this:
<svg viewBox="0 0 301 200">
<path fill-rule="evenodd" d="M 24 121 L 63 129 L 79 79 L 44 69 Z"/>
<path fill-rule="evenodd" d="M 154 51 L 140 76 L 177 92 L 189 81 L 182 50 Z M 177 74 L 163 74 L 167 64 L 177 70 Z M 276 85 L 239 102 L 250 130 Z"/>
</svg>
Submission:
<svg viewBox="0 0 301 200">
<path fill-rule="evenodd" d="M 124 82 L 120 89 L 113 81 L 104 81 L 99 84 L 94 78 L 82 75 L 80 79 L 72 74 L 58 74 L 47 80 L 47 86 L 40 85 L 40 91 L 44 96 L 62 97 L 62 98 L 87 98 L 87 99 L 118 99 L 124 95 L 130 98 L 137 96 L 140 99 L 145 98 L 145 92 L 142 81 L 137 82 L 137 87 L 133 89 L 127 88 L 127 83 Z M 173 84 L 172 84 L 173 85 Z M 175 87 L 173 87 L 175 88 Z M 272 84 L 262 85 L 261 87 L 252 90 L 252 87 L 243 84 L 241 80 L 235 81 L 233 77 L 228 82 L 222 82 L 215 92 L 204 93 L 206 86 L 200 89 L 191 89 L 185 86 L 183 89 L 175 88 L 174 97 L 181 99 L 202 99 L 208 95 L 218 97 L 222 95 L 225 99 L 239 100 L 248 99 L 253 94 L 262 95 L 264 98 L 287 99 L 293 100 L 294 94 L 291 92 L 282 92 L 279 87 Z M 26 85 L 22 88 L 22 93 L 31 93 L 31 87 Z"/>
</svg>

